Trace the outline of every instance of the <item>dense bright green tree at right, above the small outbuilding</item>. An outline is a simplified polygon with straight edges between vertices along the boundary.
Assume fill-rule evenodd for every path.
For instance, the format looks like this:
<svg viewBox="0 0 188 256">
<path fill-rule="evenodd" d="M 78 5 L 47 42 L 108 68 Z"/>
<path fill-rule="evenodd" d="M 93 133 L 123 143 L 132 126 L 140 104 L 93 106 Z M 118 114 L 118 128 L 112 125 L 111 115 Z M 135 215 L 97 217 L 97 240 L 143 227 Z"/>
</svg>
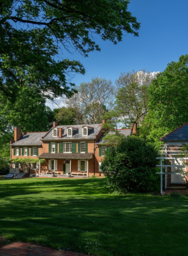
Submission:
<svg viewBox="0 0 188 256">
<path fill-rule="evenodd" d="M 148 94 L 149 113 L 140 132 L 158 141 L 188 121 L 188 55 L 182 55 L 158 73 Z"/>
</svg>

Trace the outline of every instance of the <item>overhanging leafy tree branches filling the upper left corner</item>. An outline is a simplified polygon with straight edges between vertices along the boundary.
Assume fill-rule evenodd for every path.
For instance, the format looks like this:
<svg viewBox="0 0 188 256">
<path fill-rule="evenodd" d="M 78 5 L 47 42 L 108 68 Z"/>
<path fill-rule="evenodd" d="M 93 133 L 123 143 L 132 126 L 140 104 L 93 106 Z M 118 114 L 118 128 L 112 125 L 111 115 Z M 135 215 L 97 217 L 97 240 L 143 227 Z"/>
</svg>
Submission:
<svg viewBox="0 0 188 256">
<path fill-rule="evenodd" d="M 0 90 L 11 100 L 17 88 L 34 87 L 44 98 L 72 96 L 67 72 L 85 73 L 79 61 L 61 59 L 63 51 L 85 57 L 100 51 L 94 34 L 114 44 L 124 32 L 138 36 L 140 24 L 127 0 L 10 0 L 0 3 Z M 61 51 L 60 51 L 61 50 Z"/>
</svg>

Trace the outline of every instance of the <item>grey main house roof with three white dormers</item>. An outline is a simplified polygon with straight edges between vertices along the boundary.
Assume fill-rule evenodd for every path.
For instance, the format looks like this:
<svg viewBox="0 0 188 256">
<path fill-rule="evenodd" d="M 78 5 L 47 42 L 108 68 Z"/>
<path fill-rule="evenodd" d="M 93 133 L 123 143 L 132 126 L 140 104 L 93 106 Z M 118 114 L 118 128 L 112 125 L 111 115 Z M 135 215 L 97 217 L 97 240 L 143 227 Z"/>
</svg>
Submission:
<svg viewBox="0 0 188 256">
<path fill-rule="evenodd" d="M 87 126 L 87 125 L 85 125 Z M 95 124 L 95 125 L 91 125 L 93 127 L 93 129 L 89 129 L 88 130 L 88 135 L 83 135 L 83 125 L 58 125 L 55 128 L 62 128 L 62 138 L 58 138 L 58 137 L 53 137 L 52 136 L 52 129 L 49 131 L 49 133 L 44 137 L 43 140 L 71 140 L 73 141 L 74 139 L 95 139 L 95 136 L 99 133 L 99 131 L 101 130 L 101 124 Z M 73 131 L 73 136 L 69 137 L 67 136 L 67 128 L 68 127 L 75 127 L 78 128 L 77 130 Z"/>
</svg>

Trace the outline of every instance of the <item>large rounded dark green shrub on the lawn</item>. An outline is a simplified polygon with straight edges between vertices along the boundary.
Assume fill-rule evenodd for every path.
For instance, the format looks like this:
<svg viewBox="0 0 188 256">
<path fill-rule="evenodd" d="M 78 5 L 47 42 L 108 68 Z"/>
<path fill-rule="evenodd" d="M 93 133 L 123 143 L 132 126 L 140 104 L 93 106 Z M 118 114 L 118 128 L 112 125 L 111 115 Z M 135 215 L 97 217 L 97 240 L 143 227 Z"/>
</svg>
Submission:
<svg viewBox="0 0 188 256">
<path fill-rule="evenodd" d="M 101 170 L 111 191 L 147 192 L 156 189 L 158 151 L 144 139 L 129 136 L 106 152 Z"/>
</svg>

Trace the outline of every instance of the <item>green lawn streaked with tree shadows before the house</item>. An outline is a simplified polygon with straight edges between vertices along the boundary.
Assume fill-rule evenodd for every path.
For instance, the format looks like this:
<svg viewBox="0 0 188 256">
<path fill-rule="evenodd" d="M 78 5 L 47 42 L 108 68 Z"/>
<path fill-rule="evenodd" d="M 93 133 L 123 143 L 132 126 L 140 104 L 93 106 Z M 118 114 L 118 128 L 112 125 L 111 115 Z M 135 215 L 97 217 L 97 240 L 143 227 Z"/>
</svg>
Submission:
<svg viewBox="0 0 188 256">
<path fill-rule="evenodd" d="M 187 255 L 187 197 L 110 195 L 104 184 L 0 179 L 0 236 L 90 255 Z"/>
</svg>

